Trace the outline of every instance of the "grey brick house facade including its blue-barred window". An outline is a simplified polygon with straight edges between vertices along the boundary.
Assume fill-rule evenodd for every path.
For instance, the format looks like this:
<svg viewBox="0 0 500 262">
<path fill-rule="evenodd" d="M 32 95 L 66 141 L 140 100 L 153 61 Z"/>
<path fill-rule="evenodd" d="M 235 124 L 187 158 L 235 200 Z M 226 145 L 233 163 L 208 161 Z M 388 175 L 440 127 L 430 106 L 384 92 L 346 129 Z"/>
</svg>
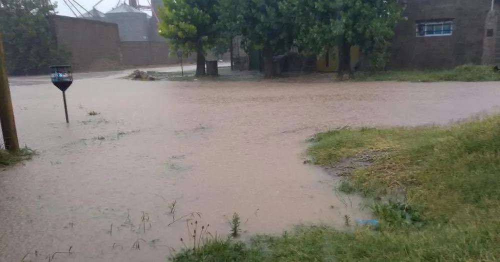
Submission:
<svg viewBox="0 0 500 262">
<path fill-rule="evenodd" d="M 500 1 L 402 1 L 404 19 L 395 29 L 389 68 L 500 63 L 500 38 L 497 40 Z"/>
</svg>

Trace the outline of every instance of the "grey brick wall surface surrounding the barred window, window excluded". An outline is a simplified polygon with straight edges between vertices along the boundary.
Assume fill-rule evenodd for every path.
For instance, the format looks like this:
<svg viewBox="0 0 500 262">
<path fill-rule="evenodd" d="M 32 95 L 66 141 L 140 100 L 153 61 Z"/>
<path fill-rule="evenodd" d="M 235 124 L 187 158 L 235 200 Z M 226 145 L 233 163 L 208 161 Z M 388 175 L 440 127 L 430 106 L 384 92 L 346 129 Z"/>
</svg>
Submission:
<svg viewBox="0 0 500 262">
<path fill-rule="evenodd" d="M 407 0 L 391 47 L 392 69 L 446 68 L 481 63 L 490 0 Z M 452 18 L 450 36 L 417 37 L 417 20 Z"/>
</svg>

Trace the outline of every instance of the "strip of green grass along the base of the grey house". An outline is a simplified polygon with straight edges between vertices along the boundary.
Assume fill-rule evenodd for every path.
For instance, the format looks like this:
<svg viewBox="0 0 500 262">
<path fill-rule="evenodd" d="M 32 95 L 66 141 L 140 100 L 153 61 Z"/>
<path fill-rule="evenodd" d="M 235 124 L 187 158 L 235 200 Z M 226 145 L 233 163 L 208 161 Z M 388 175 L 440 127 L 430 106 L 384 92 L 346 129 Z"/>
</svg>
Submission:
<svg viewBox="0 0 500 262">
<path fill-rule="evenodd" d="M 449 70 L 428 71 L 385 71 L 356 72 L 353 81 L 406 81 L 406 82 L 440 82 L 440 81 L 498 81 L 500 72 L 495 72 L 491 65 L 465 64 Z"/>
</svg>

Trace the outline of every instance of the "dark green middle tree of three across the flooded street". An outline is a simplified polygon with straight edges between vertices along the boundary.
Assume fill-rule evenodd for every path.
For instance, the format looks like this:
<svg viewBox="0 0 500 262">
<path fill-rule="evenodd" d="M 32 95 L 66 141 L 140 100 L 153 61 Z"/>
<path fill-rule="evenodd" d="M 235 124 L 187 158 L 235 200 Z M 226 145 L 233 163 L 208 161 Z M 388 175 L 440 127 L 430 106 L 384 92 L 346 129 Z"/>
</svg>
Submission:
<svg viewBox="0 0 500 262">
<path fill-rule="evenodd" d="M 293 44 L 293 23 L 285 12 L 286 0 L 239 0 L 236 25 L 243 45 L 262 49 L 264 76 L 274 76 L 273 55 L 287 52 Z"/>
</svg>

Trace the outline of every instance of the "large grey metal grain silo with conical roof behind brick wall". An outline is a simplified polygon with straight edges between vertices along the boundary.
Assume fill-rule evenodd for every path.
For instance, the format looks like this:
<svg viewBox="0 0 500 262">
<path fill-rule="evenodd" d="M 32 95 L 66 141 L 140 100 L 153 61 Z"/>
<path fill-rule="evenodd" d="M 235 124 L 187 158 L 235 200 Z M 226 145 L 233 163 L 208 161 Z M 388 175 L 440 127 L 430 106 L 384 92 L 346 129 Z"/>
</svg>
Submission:
<svg viewBox="0 0 500 262">
<path fill-rule="evenodd" d="M 125 3 L 105 13 L 105 21 L 118 24 L 121 41 L 148 41 L 148 15 Z"/>
</svg>

